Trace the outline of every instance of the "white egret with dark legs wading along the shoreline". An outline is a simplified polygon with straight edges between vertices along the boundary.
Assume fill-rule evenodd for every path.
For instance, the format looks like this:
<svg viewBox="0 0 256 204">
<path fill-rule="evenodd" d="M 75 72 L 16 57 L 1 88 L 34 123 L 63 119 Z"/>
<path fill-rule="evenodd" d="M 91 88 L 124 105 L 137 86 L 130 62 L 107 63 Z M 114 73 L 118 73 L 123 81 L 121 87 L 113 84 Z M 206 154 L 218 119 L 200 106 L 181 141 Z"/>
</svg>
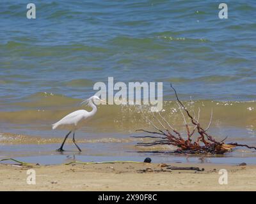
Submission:
<svg viewBox="0 0 256 204">
<path fill-rule="evenodd" d="M 95 105 L 95 101 L 101 101 L 103 103 L 108 104 L 106 101 L 103 101 L 98 96 L 92 96 L 82 102 L 82 104 L 88 105 L 92 107 L 92 111 L 88 112 L 86 110 L 76 110 L 72 113 L 69 113 L 63 119 L 59 120 L 58 122 L 52 124 L 52 129 L 56 128 L 63 128 L 68 129 L 70 132 L 65 136 L 63 143 L 60 146 L 60 149 L 57 149 L 58 152 L 63 152 L 63 145 L 66 142 L 68 135 L 73 132 L 73 142 L 76 145 L 79 152 L 82 150 L 78 147 L 75 140 L 75 131 L 81 128 L 83 122 L 88 121 L 95 115 L 97 112 L 97 106 Z"/>
</svg>

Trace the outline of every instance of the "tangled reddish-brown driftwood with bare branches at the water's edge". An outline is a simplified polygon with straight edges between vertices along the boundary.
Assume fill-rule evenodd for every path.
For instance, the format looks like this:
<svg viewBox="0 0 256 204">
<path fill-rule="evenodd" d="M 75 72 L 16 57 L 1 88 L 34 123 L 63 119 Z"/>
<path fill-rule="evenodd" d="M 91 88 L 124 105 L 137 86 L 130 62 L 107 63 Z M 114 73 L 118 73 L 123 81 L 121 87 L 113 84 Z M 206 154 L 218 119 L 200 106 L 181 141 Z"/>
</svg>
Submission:
<svg viewBox="0 0 256 204">
<path fill-rule="evenodd" d="M 136 138 L 154 138 L 156 139 L 154 142 L 148 142 L 148 143 L 137 143 L 137 146 L 153 146 L 153 145 L 174 145 L 177 147 L 177 150 L 175 150 L 176 153 L 210 153 L 210 154 L 224 154 L 225 152 L 228 152 L 232 150 L 234 147 L 247 147 L 248 149 L 255 149 L 256 147 L 250 147 L 248 145 L 243 145 L 239 143 L 224 143 L 224 141 L 227 139 L 224 138 L 220 142 L 214 140 L 214 138 L 209 134 L 206 133 L 206 131 L 209 130 L 212 122 L 212 110 L 211 110 L 211 117 L 209 124 L 207 128 L 202 128 L 200 126 L 200 108 L 198 108 L 198 117 L 196 119 L 195 117 L 195 111 L 194 116 L 189 113 L 189 110 L 184 106 L 182 101 L 180 101 L 177 91 L 173 88 L 171 84 L 171 88 L 173 89 L 175 93 L 175 97 L 177 99 L 177 105 L 179 106 L 179 111 L 182 116 L 182 119 L 184 121 L 184 126 L 187 131 L 187 138 L 186 140 L 182 138 L 181 133 L 177 131 L 177 129 L 173 128 L 172 124 L 166 120 L 160 112 L 158 112 L 158 116 L 152 113 L 152 116 L 154 118 L 153 120 L 148 119 L 148 117 L 144 117 L 146 121 L 150 122 L 152 124 L 153 128 L 156 129 L 156 131 L 147 131 L 145 129 L 138 129 L 137 131 L 143 131 L 145 133 L 150 133 L 153 135 L 161 135 L 161 136 L 134 136 Z M 187 117 L 190 119 L 191 124 L 194 126 L 192 131 L 189 129 L 189 124 L 186 120 L 186 117 L 184 115 L 186 113 Z M 167 125 L 167 126 L 166 126 Z M 161 128 L 158 128 L 157 126 L 161 126 Z M 195 133 L 198 133 L 198 136 L 195 137 Z M 194 137 L 193 137 L 194 136 Z M 193 137 L 193 138 L 192 138 Z"/>
</svg>

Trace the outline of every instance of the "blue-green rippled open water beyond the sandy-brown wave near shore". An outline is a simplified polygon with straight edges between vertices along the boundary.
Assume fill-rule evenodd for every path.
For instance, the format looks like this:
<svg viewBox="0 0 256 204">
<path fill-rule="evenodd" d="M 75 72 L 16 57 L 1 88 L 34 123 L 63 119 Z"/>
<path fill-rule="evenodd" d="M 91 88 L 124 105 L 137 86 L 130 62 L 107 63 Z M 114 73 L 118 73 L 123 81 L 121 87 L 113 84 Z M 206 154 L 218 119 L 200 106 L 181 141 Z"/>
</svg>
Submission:
<svg viewBox="0 0 256 204">
<path fill-rule="evenodd" d="M 168 82 L 198 99 L 255 99 L 256 5 L 225 1 L 1 1 L 0 97 L 86 98 L 95 82 Z"/>
</svg>

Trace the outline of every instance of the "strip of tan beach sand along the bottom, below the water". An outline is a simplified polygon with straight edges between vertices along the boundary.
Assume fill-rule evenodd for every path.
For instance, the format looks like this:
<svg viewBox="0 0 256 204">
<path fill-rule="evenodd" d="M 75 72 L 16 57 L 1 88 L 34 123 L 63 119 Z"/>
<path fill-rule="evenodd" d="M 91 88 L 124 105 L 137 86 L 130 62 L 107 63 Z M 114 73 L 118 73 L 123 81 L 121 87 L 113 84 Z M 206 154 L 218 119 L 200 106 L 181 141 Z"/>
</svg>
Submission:
<svg viewBox="0 0 256 204">
<path fill-rule="evenodd" d="M 18 166 L 0 164 L 1 191 L 256 191 L 256 166 L 183 164 L 204 171 L 168 170 L 161 164 L 108 163 Z M 36 171 L 28 185 L 27 170 Z M 220 169 L 228 184 L 220 185 Z"/>
</svg>

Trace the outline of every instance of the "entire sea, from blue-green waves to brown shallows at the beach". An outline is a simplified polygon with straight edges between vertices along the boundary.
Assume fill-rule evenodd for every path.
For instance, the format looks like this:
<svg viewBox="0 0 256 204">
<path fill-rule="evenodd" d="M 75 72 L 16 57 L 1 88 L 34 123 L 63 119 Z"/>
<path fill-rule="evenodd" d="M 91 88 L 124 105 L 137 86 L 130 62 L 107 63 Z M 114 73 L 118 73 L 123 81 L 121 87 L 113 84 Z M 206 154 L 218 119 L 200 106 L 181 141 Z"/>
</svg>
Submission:
<svg viewBox="0 0 256 204">
<path fill-rule="evenodd" d="M 95 93 L 93 84 L 108 77 L 163 82 L 163 114 L 182 129 L 172 111 L 172 82 L 180 99 L 200 106 L 205 126 L 213 110 L 216 138 L 256 144 L 254 1 L 225 1 L 228 19 L 218 17 L 216 1 L 33 3 L 32 20 L 26 1 L 0 3 L 0 156 L 55 155 L 65 131 L 52 131 L 51 124 L 80 109 Z M 140 111 L 100 106 L 77 133 L 83 154 L 139 154 L 131 136 L 150 128 Z M 102 144 L 108 144 L 103 152 Z"/>
</svg>

